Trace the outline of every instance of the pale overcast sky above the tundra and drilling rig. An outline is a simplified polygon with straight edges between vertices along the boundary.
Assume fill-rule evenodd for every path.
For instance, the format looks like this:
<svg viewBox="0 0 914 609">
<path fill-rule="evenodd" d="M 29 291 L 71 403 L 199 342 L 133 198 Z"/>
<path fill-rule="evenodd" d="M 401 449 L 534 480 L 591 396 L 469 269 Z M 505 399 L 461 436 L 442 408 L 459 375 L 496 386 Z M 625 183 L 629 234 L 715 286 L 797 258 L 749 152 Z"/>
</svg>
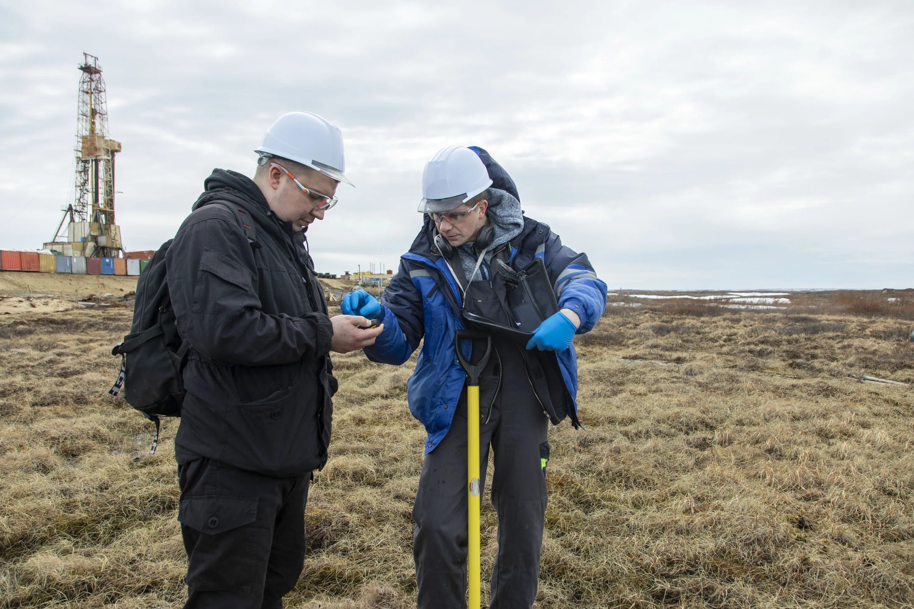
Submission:
<svg viewBox="0 0 914 609">
<path fill-rule="evenodd" d="M 72 200 L 77 65 L 100 58 L 128 249 L 290 110 L 356 188 L 317 268 L 396 268 L 422 166 L 480 145 L 611 288 L 914 287 L 914 2 L 0 0 L 0 247 Z"/>
</svg>

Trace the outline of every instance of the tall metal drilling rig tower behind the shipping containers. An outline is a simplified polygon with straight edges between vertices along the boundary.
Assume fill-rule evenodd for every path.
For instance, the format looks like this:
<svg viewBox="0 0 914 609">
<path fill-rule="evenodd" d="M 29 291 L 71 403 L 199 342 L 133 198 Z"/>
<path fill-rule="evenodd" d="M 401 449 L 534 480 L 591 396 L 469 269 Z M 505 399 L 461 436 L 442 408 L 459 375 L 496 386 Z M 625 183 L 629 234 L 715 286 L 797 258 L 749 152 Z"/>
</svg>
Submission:
<svg viewBox="0 0 914 609">
<path fill-rule="evenodd" d="M 69 216 L 69 241 L 96 243 L 97 247 L 87 255 L 116 257 L 122 244 L 120 228 L 114 221 L 114 156 L 121 152 L 121 142 L 108 138 L 108 103 L 99 58 L 88 53 L 83 53 L 82 58 L 74 149 L 75 196 L 53 241 L 58 241 Z"/>
</svg>

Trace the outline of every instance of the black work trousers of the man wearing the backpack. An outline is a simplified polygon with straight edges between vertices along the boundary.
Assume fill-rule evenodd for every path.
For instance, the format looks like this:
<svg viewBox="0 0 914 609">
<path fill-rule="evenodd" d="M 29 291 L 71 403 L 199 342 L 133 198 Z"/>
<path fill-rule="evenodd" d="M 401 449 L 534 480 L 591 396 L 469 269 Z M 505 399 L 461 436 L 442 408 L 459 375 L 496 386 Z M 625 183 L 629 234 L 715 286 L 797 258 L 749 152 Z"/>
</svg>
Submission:
<svg viewBox="0 0 914 609">
<path fill-rule="evenodd" d="M 206 458 L 177 471 L 185 609 L 281 609 L 304 566 L 311 472 L 271 478 Z"/>
</svg>

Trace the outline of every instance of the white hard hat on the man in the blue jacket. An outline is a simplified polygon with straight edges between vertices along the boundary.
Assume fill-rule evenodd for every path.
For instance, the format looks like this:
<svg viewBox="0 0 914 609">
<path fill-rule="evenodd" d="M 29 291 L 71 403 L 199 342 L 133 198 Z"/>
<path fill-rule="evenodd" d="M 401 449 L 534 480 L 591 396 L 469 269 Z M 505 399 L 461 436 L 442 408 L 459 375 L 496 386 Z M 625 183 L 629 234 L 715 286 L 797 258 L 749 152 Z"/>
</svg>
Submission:
<svg viewBox="0 0 914 609">
<path fill-rule="evenodd" d="M 466 146 L 442 148 L 425 163 L 419 211 L 449 212 L 491 185 L 492 179 L 478 154 Z"/>
</svg>

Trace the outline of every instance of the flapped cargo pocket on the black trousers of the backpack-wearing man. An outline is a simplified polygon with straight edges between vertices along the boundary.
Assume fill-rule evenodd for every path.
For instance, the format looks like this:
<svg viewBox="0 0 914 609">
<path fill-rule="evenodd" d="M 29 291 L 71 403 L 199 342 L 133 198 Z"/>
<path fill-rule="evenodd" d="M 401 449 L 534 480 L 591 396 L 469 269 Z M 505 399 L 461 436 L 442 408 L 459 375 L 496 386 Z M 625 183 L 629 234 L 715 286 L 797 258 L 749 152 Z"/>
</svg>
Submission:
<svg viewBox="0 0 914 609">
<path fill-rule="evenodd" d="M 181 499 L 177 520 L 200 533 L 189 549 L 187 587 L 191 591 L 242 590 L 254 583 L 256 557 L 270 550 L 258 539 L 256 497 L 202 495 Z M 263 547 L 260 547 L 263 546 Z"/>
</svg>

